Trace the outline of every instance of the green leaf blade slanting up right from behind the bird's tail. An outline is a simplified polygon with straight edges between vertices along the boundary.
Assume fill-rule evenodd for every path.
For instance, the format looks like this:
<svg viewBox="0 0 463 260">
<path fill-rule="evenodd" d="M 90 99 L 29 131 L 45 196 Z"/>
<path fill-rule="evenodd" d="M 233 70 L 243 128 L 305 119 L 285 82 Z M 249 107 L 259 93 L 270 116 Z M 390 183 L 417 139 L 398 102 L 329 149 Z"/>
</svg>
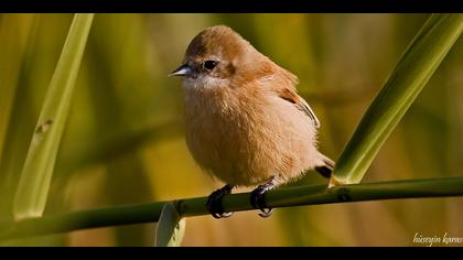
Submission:
<svg viewBox="0 0 463 260">
<path fill-rule="evenodd" d="M 432 14 L 408 46 L 342 152 L 330 186 L 359 183 L 424 85 L 463 32 L 463 14 Z"/>
</svg>

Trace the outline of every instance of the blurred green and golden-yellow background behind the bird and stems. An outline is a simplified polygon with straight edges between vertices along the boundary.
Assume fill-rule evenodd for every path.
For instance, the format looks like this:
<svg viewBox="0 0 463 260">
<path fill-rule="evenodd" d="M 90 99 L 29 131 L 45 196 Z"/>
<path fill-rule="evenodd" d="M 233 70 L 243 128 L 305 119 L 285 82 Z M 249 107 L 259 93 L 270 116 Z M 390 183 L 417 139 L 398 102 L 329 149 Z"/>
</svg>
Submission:
<svg viewBox="0 0 463 260">
<path fill-rule="evenodd" d="M 45 214 L 206 196 L 183 138 L 180 65 L 194 35 L 227 24 L 299 76 L 337 159 L 428 14 L 97 14 L 74 94 Z M 0 14 L 0 221 L 11 202 L 73 14 Z M 364 182 L 461 175 L 463 42 L 459 41 Z M 325 183 L 309 174 L 294 185 Z M 249 191 L 249 189 L 240 189 Z M 413 246 L 413 236 L 463 237 L 463 198 L 385 201 L 187 219 L 183 246 Z M 152 246 L 155 225 L 3 242 Z"/>
</svg>

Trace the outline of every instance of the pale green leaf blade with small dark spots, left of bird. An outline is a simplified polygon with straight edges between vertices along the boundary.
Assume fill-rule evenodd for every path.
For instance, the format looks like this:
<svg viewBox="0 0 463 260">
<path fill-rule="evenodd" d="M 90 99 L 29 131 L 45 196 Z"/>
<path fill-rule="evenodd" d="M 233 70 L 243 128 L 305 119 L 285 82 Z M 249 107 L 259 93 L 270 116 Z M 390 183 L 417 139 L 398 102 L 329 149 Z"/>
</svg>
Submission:
<svg viewBox="0 0 463 260">
<path fill-rule="evenodd" d="M 13 202 L 15 219 L 42 216 L 94 14 L 75 14 L 53 73 Z"/>
</svg>

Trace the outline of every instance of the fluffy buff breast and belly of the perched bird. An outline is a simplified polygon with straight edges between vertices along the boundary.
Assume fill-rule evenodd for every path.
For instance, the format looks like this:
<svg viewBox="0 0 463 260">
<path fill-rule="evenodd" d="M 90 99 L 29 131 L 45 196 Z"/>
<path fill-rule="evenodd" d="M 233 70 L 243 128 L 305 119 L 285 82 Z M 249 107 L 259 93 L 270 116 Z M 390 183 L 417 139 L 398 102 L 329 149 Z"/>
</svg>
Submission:
<svg viewBox="0 0 463 260">
<path fill-rule="evenodd" d="M 223 182 L 249 186 L 272 176 L 286 182 L 316 164 L 315 129 L 292 104 L 276 98 L 247 108 L 233 107 L 245 106 L 243 100 L 218 105 L 186 100 L 185 130 L 195 161 Z"/>
</svg>

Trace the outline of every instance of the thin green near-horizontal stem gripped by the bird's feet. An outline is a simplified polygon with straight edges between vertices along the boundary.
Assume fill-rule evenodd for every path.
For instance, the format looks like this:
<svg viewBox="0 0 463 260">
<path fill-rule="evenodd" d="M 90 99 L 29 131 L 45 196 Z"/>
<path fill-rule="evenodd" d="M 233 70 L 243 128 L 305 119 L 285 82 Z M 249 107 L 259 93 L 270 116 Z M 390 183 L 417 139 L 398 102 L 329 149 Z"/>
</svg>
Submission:
<svg viewBox="0 0 463 260">
<path fill-rule="evenodd" d="M 331 189 L 326 189 L 326 185 L 313 185 L 277 189 L 266 194 L 267 204 L 274 208 L 446 196 L 463 196 L 463 177 L 351 184 L 335 186 Z M 159 220 L 165 203 L 173 203 L 181 217 L 208 215 L 205 206 L 206 199 L 207 197 L 185 198 L 30 218 L 8 225 L 9 228 L 0 234 L 0 240 L 87 228 L 155 223 Z M 249 204 L 249 193 L 225 196 L 223 204 L 225 212 L 252 210 Z"/>
</svg>

